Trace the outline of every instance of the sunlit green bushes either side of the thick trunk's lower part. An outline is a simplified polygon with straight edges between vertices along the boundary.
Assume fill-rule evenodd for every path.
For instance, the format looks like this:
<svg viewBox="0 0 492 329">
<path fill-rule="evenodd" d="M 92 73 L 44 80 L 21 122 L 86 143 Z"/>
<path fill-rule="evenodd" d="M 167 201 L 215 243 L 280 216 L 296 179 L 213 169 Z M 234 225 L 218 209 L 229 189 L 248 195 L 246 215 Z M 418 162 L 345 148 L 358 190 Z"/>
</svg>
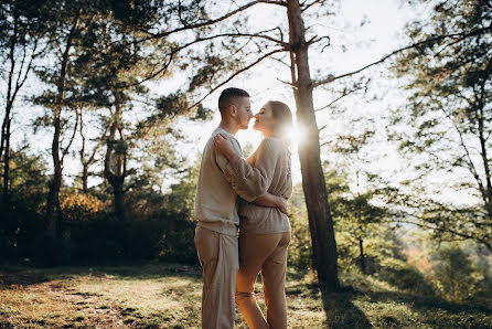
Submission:
<svg viewBox="0 0 492 329">
<path fill-rule="evenodd" d="M 402 258 L 400 243 L 394 229 L 385 222 L 387 212 L 371 201 L 373 192 L 353 197 L 344 172 L 325 173 L 330 209 L 335 222 L 339 267 L 342 270 L 362 270 L 374 274 L 387 265 L 388 259 Z M 311 266 L 311 241 L 302 185 L 293 187 L 289 200 L 291 242 L 288 254 L 290 266 L 306 269 Z M 361 262 L 361 246 L 364 263 Z"/>
</svg>

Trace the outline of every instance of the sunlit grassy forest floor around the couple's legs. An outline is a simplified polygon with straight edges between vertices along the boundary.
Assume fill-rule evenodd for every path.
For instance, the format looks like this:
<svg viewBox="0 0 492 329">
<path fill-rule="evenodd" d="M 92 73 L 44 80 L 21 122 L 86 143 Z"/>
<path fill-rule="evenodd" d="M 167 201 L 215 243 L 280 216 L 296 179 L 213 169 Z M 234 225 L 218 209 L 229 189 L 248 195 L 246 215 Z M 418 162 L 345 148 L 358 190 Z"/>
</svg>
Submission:
<svg viewBox="0 0 492 329">
<path fill-rule="evenodd" d="M 350 288 L 322 296 L 311 274 L 289 272 L 288 327 L 492 328 L 492 303 L 449 303 L 362 275 L 341 279 Z M 3 266 L 0 328 L 200 328 L 201 282 L 200 268 L 174 264 Z M 247 328 L 239 312 L 236 328 Z"/>
</svg>

